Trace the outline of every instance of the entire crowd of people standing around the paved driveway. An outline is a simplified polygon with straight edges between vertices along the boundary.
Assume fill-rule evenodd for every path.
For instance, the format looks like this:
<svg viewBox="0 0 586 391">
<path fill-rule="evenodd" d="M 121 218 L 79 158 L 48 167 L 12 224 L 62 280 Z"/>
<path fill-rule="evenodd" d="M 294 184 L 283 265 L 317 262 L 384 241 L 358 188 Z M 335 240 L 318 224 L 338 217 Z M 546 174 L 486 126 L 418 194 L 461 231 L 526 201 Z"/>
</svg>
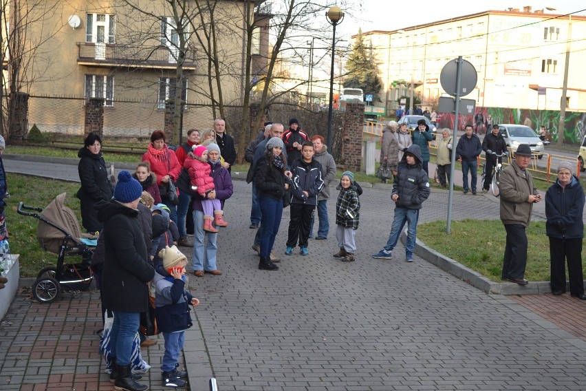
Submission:
<svg viewBox="0 0 586 391">
<path fill-rule="evenodd" d="M 439 182 L 442 187 L 450 182 L 451 154 L 456 148 L 462 162 L 464 193 L 471 189 L 474 194 L 477 157 L 484 150 L 487 163 L 490 158 L 494 166 L 492 152 L 504 152 L 506 145 L 498 125 L 484 142 L 474 134 L 472 125 L 465 129 L 455 145 L 449 129 L 442 130 L 437 150 Z M 394 120 L 384 129 L 380 163 L 393 176 L 391 200 L 395 202 L 395 212 L 389 240 L 373 258 L 391 259 L 407 224 L 405 260 L 413 262 L 420 209 L 430 195 L 427 163 L 428 145 L 433 139 L 435 135 L 425 120 L 419 121 L 413 134 L 409 134 L 406 124 L 399 127 Z M 188 306 L 199 304 L 199 300 L 185 290 L 188 259 L 177 246 L 193 246 L 191 266 L 196 277 L 206 273 L 221 275 L 217 235 L 228 226 L 230 207 L 226 200 L 233 193 L 230 168 L 236 152 L 224 120 L 215 120 L 213 129 L 190 129 L 186 142 L 176 149 L 167 145 L 166 135 L 160 130 L 153 131 L 150 141 L 135 172 L 121 171 L 115 186 L 101 155 L 99 136 L 89 134 L 78 153 L 83 226 L 88 232 L 100 233 L 93 266 L 102 310 L 114 314 L 110 379 L 124 390 L 146 389 L 132 373 L 130 357 L 132 340 L 140 326 L 139 315 L 149 303 L 149 284 L 155 292 L 155 313 L 165 317 L 160 322 L 165 340 L 163 385 L 185 385 L 185 373 L 177 368 L 177 357 L 184 343 L 182 332 L 191 326 Z M 291 118 L 286 131 L 281 123 L 265 123 L 264 131 L 248 145 L 245 158 L 250 163 L 246 179 L 252 183 L 250 229 L 257 229 L 252 249 L 259 254 L 259 269 L 277 271 L 277 253 L 281 251 L 275 250 L 275 240 L 284 208 L 290 207 L 291 212 L 287 241 L 283 244 L 285 255 L 293 255 L 298 246 L 299 255 L 309 255 L 310 237 L 327 240 L 327 200 L 336 176 L 336 162 L 323 136 L 310 137 L 296 118 Z M 525 229 L 532 204 L 541 201 L 526 170 L 530 158 L 528 145 L 520 145 L 513 164 L 501 173 L 501 220 L 507 233 L 502 279 L 520 285 L 528 284 L 524 278 L 528 246 Z M 552 292 L 565 292 L 567 262 L 570 294 L 586 299 L 581 266 L 584 193 L 572 170 L 571 165 L 561 164 L 558 180 L 545 197 Z M 468 171 L 472 175 L 469 186 Z M 340 251 L 333 256 L 354 262 L 362 189 L 351 171 L 342 174 L 336 189 L 335 233 Z M 314 236 L 316 211 L 318 226 Z M 190 225 L 193 242 L 187 234 Z M 169 317 L 177 319 L 171 321 Z M 155 343 L 142 336 L 142 346 Z"/>
</svg>

